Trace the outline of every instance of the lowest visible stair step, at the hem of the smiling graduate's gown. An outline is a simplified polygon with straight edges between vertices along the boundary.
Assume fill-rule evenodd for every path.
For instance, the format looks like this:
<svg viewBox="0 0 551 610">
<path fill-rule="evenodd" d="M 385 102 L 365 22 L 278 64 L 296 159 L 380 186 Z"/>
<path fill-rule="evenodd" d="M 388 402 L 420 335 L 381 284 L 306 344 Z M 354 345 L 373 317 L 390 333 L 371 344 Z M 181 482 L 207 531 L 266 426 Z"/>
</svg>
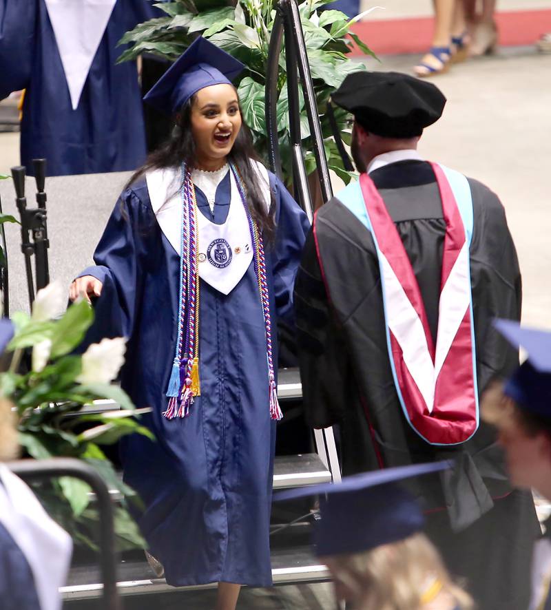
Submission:
<svg viewBox="0 0 551 610">
<path fill-rule="evenodd" d="M 318 582 L 329 580 L 329 571 L 320 564 L 308 546 L 275 549 L 271 553 L 274 585 L 291 582 Z M 118 565 L 118 591 L 121 595 L 145 593 L 174 593 L 214 589 L 216 582 L 208 585 L 192 585 L 175 589 L 167 585 L 164 578 L 156 578 L 147 561 L 123 561 Z M 66 587 L 61 587 L 63 600 L 85 600 L 101 596 L 103 585 L 96 565 L 82 565 L 71 569 Z"/>
</svg>

